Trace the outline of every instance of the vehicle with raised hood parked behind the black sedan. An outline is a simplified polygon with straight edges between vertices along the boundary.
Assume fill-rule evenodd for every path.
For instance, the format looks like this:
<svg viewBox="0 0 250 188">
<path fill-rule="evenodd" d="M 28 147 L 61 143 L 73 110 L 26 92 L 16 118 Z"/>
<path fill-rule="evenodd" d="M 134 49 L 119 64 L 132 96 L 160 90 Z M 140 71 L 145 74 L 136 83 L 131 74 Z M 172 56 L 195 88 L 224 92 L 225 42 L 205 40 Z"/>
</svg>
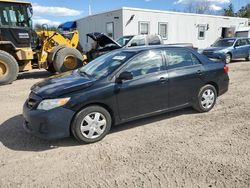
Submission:
<svg viewBox="0 0 250 188">
<path fill-rule="evenodd" d="M 87 37 L 95 41 L 92 50 L 87 52 L 89 60 L 93 60 L 115 49 L 163 44 L 160 35 L 130 35 L 121 37 L 116 41 L 104 33 L 97 32 L 89 33 Z"/>
</svg>

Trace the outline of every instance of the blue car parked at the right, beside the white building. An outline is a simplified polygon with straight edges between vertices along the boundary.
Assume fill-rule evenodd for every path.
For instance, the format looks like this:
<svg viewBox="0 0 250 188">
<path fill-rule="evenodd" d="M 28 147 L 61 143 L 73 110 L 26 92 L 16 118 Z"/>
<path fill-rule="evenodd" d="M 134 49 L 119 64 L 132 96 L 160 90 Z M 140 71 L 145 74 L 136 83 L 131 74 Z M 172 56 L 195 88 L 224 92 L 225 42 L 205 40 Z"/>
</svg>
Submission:
<svg viewBox="0 0 250 188">
<path fill-rule="evenodd" d="M 234 59 L 245 58 L 250 61 L 249 38 L 224 38 L 217 40 L 202 52 L 208 58 L 224 59 L 230 63 Z"/>
</svg>

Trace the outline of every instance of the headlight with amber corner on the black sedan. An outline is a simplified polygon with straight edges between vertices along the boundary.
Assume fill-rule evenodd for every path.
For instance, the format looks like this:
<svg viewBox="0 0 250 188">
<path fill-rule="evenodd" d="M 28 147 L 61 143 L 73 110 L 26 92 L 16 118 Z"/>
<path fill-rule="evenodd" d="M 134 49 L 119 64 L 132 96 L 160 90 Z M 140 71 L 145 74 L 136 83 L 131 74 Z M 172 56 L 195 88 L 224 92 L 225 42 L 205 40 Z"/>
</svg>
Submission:
<svg viewBox="0 0 250 188">
<path fill-rule="evenodd" d="M 40 102 L 37 109 L 38 110 L 51 110 L 60 106 L 67 104 L 70 100 L 69 98 L 61 98 L 61 99 L 46 99 Z"/>
</svg>

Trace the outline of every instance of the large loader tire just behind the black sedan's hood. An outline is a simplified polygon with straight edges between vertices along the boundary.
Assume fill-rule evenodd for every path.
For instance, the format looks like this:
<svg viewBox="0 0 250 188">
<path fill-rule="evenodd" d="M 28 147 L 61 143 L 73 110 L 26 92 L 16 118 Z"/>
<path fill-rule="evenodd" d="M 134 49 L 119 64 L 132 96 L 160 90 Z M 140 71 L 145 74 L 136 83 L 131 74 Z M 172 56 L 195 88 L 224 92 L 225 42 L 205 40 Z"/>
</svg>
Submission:
<svg viewBox="0 0 250 188">
<path fill-rule="evenodd" d="M 67 58 L 70 58 L 72 63 L 66 61 Z M 78 69 L 83 66 L 83 56 L 75 48 L 62 48 L 56 53 L 53 65 L 59 73 Z"/>
</svg>

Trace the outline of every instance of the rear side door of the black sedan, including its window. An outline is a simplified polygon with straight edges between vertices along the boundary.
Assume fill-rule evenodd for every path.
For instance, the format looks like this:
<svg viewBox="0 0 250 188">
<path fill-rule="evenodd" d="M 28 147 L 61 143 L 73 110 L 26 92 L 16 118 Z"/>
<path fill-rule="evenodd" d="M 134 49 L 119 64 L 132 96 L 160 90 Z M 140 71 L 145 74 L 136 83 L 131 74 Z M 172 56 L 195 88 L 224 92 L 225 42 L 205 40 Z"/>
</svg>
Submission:
<svg viewBox="0 0 250 188">
<path fill-rule="evenodd" d="M 203 86 L 204 68 L 188 49 L 165 50 L 169 78 L 169 108 L 192 102 Z"/>
</svg>

